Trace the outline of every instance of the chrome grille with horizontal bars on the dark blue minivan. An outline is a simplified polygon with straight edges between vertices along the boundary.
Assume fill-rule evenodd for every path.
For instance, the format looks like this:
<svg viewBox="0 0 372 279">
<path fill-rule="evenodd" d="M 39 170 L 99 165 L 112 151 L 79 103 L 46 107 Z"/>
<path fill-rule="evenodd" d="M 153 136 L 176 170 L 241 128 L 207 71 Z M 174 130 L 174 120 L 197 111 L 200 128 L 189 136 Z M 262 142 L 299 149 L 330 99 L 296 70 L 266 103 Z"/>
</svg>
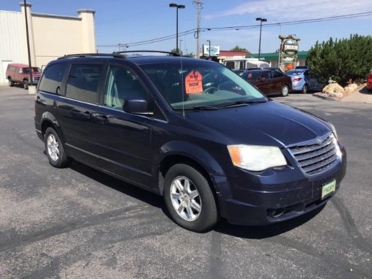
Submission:
<svg viewBox="0 0 372 279">
<path fill-rule="evenodd" d="M 339 147 L 333 134 L 306 144 L 292 145 L 288 150 L 299 167 L 308 175 L 316 175 L 331 169 L 337 164 L 339 158 Z"/>
</svg>

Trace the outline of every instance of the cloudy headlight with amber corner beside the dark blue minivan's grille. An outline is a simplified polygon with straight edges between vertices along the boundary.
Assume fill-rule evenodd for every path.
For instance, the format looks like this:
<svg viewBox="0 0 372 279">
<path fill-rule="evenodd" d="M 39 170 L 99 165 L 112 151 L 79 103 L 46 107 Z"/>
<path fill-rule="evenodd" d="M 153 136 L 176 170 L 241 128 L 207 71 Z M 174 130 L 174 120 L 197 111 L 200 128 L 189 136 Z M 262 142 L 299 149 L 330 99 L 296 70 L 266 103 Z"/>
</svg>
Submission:
<svg viewBox="0 0 372 279">
<path fill-rule="evenodd" d="M 282 151 L 275 146 L 228 145 L 227 149 L 234 166 L 242 169 L 261 171 L 287 164 Z"/>
</svg>

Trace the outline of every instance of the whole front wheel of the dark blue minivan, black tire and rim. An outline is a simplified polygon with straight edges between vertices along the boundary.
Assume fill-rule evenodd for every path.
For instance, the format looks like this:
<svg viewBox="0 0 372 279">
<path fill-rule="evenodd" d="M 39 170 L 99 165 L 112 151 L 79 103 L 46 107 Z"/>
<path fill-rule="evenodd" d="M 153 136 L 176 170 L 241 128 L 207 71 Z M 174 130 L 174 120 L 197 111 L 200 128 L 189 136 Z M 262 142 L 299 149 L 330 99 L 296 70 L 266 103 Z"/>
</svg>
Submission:
<svg viewBox="0 0 372 279">
<path fill-rule="evenodd" d="M 176 164 L 167 171 L 163 197 L 171 218 L 187 230 L 208 231 L 219 220 L 208 180 L 189 165 Z"/>
</svg>

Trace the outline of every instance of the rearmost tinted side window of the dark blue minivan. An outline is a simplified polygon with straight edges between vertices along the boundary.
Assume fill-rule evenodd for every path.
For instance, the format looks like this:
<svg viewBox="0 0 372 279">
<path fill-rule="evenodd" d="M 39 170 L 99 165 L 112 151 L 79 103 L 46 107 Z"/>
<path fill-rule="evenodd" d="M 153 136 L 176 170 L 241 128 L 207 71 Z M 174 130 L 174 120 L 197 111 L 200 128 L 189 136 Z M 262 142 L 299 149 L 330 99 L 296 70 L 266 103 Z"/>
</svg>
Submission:
<svg viewBox="0 0 372 279">
<path fill-rule="evenodd" d="M 39 90 L 53 94 L 60 94 L 62 78 L 66 65 L 66 63 L 50 65 L 41 78 Z"/>
</svg>

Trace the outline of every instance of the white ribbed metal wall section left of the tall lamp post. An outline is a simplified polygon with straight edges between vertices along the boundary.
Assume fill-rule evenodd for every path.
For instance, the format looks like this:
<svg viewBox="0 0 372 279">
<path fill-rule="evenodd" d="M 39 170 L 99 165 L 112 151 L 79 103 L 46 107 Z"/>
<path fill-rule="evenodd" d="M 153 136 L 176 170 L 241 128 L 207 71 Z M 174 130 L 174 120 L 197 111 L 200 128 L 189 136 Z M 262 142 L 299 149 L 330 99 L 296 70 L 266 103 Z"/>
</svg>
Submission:
<svg viewBox="0 0 372 279">
<path fill-rule="evenodd" d="M 22 50 L 22 17 L 19 12 L 0 11 L 0 83 L 9 63 L 25 62 Z"/>
</svg>

